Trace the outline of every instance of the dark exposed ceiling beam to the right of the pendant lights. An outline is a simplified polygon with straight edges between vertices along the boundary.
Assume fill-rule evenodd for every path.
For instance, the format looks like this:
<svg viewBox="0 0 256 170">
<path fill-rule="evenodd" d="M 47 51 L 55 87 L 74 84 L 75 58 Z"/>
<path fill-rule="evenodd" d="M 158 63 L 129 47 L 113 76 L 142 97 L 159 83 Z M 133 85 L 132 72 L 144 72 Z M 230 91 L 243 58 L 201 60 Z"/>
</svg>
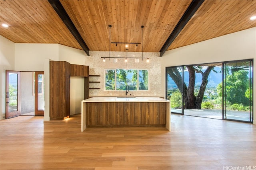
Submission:
<svg viewBox="0 0 256 170">
<path fill-rule="evenodd" d="M 182 18 L 180 19 L 176 27 L 174 28 L 174 30 L 172 31 L 171 35 L 168 37 L 168 39 L 164 43 L 162 49 L 160 50 L 160 57 L 164 55 L 165 51 L 172 44 L 172 42 L 178 36 L 180 31 L 182 31 L 182 29 L 185 27 L 188 21 L 192 18 L 192 16 L 195 14 L 195 12 L 198 10 L 198 8 L 202 5 L 203 2 L 204 0 L 193 0 L 191 2 L 190 6 L 188 7 L 186 12 L 182 16 Z"/>
</svg>

